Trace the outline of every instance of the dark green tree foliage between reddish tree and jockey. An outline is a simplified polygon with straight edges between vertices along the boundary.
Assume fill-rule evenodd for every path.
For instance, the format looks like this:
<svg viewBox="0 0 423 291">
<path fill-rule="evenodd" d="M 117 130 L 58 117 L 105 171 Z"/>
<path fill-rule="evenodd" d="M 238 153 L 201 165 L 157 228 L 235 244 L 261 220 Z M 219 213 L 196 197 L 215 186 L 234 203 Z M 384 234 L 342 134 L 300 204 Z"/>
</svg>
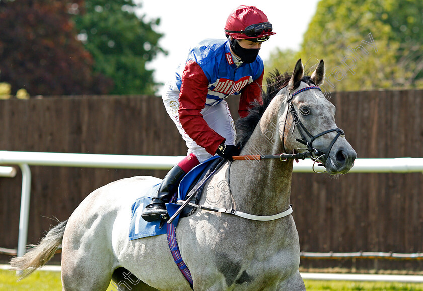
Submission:
<svg viewBox="0 0 423 291">
<path fill-rule="evenodd" d="M 145 65 L 165 53 L 154 31 L 160 19 L 138 17 L 132 0 L 85 0 L 84 14 L 74 17 L 79 38 L 92 54 L 94 70 L 114 81 L 113 94 L 153 94 L 153 71 Z"/>
</svg>

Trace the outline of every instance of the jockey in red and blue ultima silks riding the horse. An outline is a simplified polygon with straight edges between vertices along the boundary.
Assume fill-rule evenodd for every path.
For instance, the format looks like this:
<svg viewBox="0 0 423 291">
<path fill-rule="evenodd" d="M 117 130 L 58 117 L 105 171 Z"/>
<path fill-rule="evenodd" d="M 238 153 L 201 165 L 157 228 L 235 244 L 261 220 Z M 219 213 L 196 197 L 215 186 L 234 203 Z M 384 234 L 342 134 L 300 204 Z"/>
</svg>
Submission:
<svg viewBox="0 0 423 291">
<path fill-rule="evenodd" d="M 193 167 L 215 154 L 228 160 L 239 154 L 234 121 L 224 99 L 240 96 L 241 117 L 248 115 L 253 101 L 261 101 L 264 65 L 258 51 L 275 32 L 261 10 L 242 5 L 229 15 L 225 34 L 227 40 L 206 39 L 192 47 L 165 85 L 163 103 L 186 141 L 188 155 L 169 171 L 157 197 L 143 210 L 146 221 L 166 219 L 165 203 Z"/>
</svg>

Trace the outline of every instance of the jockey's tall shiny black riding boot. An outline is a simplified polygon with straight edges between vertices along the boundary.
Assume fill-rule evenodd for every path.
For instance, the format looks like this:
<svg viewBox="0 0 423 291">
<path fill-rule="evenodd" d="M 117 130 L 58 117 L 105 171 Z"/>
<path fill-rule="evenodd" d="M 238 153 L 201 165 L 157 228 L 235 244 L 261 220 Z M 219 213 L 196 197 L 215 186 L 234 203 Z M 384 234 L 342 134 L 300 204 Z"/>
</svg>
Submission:
<svg viewBox="0 0 423 291">
<path fill-rule="evenodd" d="M 141 217 L 145 221 L 156 221 L 161 219 L 162 216 L 166 216 L 167 210 L 165 203 L 170 202 L 175 189 L 177 189 L 185 174 L 178 165 L 173 166 L 169 173 L 167 173 L 160 184 L 157 197 L 153 197 L 151 203 L 141 213 Z"/>
</svg>

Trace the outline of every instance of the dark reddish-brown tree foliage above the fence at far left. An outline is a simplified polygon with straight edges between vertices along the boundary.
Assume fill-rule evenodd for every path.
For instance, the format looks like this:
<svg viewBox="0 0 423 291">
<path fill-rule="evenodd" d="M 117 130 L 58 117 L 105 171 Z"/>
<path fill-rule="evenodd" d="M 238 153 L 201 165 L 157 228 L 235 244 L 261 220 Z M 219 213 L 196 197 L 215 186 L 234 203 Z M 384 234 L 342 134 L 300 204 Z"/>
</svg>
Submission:
<svg viewBox="0 0 423 291">
<path fill-rule="evenodd" d="M 31 95 L 104 93 L 70 21 L 82 0 L 0 1 L 0 81 Z"/>
</svg>

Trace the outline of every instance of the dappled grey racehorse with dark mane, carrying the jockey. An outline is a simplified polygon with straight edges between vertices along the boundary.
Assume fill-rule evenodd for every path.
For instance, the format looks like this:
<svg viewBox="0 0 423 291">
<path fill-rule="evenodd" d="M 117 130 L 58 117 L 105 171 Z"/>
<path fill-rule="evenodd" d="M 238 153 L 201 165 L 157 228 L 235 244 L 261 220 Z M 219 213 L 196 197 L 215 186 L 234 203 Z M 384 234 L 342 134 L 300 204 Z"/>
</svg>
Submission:
<svg viewBox="0 0 423 291">
<path fill-rule="evenodd" d="M 301 59 L 292 75 L 274 75 L 263 103 L 237 124 L 241 155 L 308 153 L 329 174 L 345 174 L 356 152 L 335 124 L 335 107 L 317 88 L 320 61 L 304 76 Z M 227 161 L 207 181 L 199 204 L 268 217 L 290 209 L 292 159 Z M 166 235 L 128 240 L 131 205 L 160 182 L 132 177 L 88 195 L 67 221 L 39 245 L 11 260 L 28 275 L 62 246 L 63 290 L 190 290 Z M 305 290 L 298 271 L 300 245 L 291 214 L 272 220 L 198 210 L 180 219 L 176 237 L 195 290 Z"/>
</svg>

